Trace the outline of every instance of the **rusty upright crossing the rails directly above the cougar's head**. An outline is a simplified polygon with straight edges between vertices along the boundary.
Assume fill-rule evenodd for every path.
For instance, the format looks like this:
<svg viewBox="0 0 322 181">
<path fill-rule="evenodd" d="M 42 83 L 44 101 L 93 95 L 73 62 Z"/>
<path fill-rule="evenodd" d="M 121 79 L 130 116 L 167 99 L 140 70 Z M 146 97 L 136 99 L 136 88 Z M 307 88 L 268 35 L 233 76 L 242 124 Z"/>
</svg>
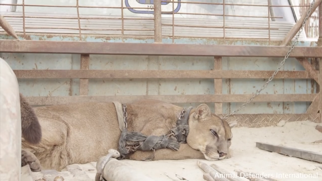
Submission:
<svg viewBox="0 0 322 181">
<path fill-rule="evenodd" d="M 214 57 L 214 59 L 214 70 L 222 70 L 222 57 Z M 214 93 L 223 94 L 223 79 L 215 79 L 214 84 Z M 215 114 L 223 114 L 223 103 L 215 103 Z"/>
</svg>

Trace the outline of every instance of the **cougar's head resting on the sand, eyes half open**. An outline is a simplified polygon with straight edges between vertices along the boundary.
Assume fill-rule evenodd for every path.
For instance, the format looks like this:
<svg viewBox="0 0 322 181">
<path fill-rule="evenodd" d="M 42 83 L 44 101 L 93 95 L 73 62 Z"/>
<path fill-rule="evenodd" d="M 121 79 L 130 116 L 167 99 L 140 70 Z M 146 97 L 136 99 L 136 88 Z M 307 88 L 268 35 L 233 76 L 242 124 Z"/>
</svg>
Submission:
<svg viewBox="0 0 322 181">
<path fill-rule="evenodd" d="M 237 121 L 227 123 L 212 114 L 206 104 L 200 104 L 189 117 L 187 144 L 209 161 L 224 159 L 232 144 L 231 128 L 236 125 Z"/>
</svg>

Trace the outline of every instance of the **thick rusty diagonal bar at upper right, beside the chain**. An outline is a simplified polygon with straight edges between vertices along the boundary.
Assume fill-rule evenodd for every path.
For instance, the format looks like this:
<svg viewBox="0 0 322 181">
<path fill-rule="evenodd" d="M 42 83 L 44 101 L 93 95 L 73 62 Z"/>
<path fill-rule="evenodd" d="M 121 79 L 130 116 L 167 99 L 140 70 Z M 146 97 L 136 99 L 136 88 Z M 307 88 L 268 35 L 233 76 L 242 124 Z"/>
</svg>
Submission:
<svg viewBox="0 0 322 181">
<path fill-rule="evenodd" d="M 309 14 L 308 17 L 310 17 L 314 11 L 317 9 L 317 6 L 319 6 L 321 4 L 322 0 L 316 0 L 315 3 L 313 4 L 313 7 L 311 9 L 311 13 Z M 310 10 L 310 8 L 308 8 L 305 12 L 303 12 L 301 18 L 298 20 L 298 22 L 296 22 L 296 24 L 292 27 L 292 29 L 289 31 L 289 33 L 287 33 L 287 35 L 285 36 L 284 40 L 282 41 L 282 43 L 280 44 L 280 46 L 286 46 L 292 39 L 293 37 L 296 35 L 296 33 L 298 33 L 298 30 L 300 30 L 305 16 L 308 13 L 308 11 Z"/>
</svg>

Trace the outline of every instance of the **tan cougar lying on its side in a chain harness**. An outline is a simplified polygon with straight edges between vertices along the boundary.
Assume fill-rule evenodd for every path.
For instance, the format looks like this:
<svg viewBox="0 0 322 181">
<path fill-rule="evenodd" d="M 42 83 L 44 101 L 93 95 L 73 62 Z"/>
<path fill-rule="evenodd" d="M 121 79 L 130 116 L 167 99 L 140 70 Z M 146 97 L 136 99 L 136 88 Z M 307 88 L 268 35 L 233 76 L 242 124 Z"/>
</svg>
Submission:
<svg viewBox="0 0 322 181">
<path fill-rule="evenodd" d="M 128 131 L 148 136 L 169 134 L 183 110 L 159 100 L 138 100 L 126 105 Z M 42 127 L 42 139 L 37 145 L 22 139 L 22 149 L 30 160 L 26 164 L 33 164 L 33 171 L 61 171 L 70 164 L 96 162 L 107 155 L 109 149 L 118 149 L 121 130 L 112 102 L 52 105 L 34 108 L 34 111 Z M 154 160 L 229 158 L 231 128 L 236 123 L 223 121 L 212 114 L 206 104 L 201 104 L 189 113 L 187 144 L 181 144 L 178 151 L 157 149 Z M 129 159 L 142 160 L 152 152 L 137 150 L 129 155 Z"/>
</svg>

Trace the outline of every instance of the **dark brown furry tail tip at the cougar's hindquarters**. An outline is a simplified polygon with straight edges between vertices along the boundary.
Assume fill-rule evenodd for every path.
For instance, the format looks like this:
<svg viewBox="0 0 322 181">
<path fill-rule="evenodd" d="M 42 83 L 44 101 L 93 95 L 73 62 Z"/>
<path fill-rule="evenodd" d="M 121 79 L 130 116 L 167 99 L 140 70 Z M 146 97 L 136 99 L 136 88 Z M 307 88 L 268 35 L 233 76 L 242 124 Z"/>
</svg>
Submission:
<svg viewBox="0 0 322 181">
<path fill-rule="evenodd" d="M 23 95 L 21 93 L 19 95 L 22 136 L 29 143 L 38 144 L 42 138 L 42 130 L 38 118 Z"/>
</svg>

